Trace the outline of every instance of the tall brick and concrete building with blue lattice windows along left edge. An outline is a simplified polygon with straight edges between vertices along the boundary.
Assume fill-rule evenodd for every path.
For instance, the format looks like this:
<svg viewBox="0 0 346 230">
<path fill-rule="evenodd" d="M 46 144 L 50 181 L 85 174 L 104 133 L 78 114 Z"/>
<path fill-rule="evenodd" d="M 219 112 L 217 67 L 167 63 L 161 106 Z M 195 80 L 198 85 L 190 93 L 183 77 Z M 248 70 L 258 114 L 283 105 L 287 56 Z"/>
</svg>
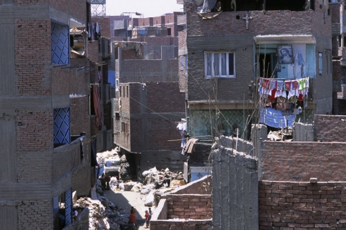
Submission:
<svg viewBox="0 0 346 230">
<path fill-rule="evenodd" d="M 0 1 L 0 229 L 71 225 L 73 191 L 95 184 L 107 122 L 89 23 L 86 0 Z"/>
</svg>

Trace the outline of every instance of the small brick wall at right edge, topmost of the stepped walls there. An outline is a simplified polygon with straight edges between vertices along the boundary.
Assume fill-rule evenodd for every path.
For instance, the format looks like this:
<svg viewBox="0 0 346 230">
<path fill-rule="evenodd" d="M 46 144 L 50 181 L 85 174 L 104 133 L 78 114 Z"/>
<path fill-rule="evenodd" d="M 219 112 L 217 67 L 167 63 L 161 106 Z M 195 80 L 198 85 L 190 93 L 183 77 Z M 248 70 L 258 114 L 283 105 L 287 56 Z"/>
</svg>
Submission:
<svg viewBox="0 0 346 230">
<path fill-rule="evenodd" d="M 315 115 L 314 124 L 316 141 L 346 142 L 346 116 Z"/>
</svg>

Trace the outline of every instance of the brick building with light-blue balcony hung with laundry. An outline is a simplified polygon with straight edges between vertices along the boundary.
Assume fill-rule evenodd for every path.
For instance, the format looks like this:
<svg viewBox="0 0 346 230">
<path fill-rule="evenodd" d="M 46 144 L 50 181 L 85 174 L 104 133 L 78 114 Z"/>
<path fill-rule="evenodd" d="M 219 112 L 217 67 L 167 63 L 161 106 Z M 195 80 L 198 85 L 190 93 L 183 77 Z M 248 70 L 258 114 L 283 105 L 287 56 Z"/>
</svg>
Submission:
<svg viewBox="0 0 346 230">
<path fill-rule="evenodd" d="M 197 2 L 185 3 L 186 30 L 179 32 L 179 59 L 186 63 L 181 66 L 180 82 L 186 86 L 190 135 L 248 139 L 253 122 L 280 128 L 286 127 L 287 120 L 288 126 L 299 119 L 311 123 L 313 114 L 332 112 L 331 11 L 327 1 L 266 1 L 265 8 L 263 1 L 237 2 L 233 8 L 230 1 L 218 2 L 221 11 L 213 5 L 205 13 L 197 12 Z M 291 56 L 289 63 L 280 59 L 285 48 Z M 276 107 L 261 107 L 260 102 L 265 103 L 257 88 L 262 90 L 261 77 L 271 78 L 273 84 L 309 77 L 302 113 L 291 112 L 284 118 L 281 111 L 276 113 Z M 276 102 L 277 97 L 269 107 Z M 295 102 L 292 105 L 298 108 Z"/>
</svg>

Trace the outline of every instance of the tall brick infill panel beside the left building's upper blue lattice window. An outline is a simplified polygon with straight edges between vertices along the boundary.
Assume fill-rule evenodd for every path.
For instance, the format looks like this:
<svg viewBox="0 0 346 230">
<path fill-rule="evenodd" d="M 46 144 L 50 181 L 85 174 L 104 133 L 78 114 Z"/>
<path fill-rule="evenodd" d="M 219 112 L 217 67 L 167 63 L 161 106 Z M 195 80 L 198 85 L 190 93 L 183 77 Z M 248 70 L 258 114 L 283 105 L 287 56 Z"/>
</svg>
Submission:
<svg viewBox="0 0 346 230">
<path fill-rule="evenodd" d="M 51 95 L 51 21 L 15 20 L 15 73 L 18 95 Z"/>
</svg>

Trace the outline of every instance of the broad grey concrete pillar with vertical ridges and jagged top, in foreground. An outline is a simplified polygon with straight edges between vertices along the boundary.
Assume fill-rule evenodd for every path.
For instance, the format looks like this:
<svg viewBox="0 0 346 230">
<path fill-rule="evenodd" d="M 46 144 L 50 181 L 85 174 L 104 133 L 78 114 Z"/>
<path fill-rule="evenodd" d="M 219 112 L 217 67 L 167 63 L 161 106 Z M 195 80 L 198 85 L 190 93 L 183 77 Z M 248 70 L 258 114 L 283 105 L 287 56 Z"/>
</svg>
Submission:
<svg viewBox="0 0 346 230">
<path fill-rule="evenodd" d="M 218 144 L 212 161 L 212 229 L 258 229 L 255 157 Z"/>
</svg>

